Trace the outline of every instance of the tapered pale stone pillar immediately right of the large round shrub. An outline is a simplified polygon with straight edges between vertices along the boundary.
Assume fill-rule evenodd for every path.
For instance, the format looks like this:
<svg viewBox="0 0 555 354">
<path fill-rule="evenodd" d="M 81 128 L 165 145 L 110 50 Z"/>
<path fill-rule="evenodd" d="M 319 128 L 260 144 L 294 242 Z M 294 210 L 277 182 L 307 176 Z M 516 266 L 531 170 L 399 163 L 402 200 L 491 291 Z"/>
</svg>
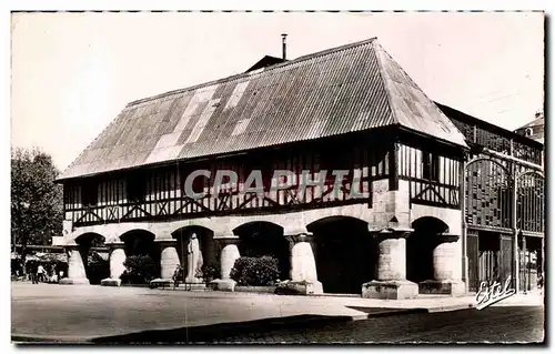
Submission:
<svg viewBox="0 0 555 354">
<path fill-rule="evenodd" d="M 310 233 L 300 233 L 285 236 L 290 242 L 291 270 L 293 283 L 302 283 L 300 292 L 304 294 L 322 294 L 322 283 L 317 281 L 316 260 L 314 256 L 314 236 Z M 299 287 L 299 286 L 297 286 Z"/>
</svg>

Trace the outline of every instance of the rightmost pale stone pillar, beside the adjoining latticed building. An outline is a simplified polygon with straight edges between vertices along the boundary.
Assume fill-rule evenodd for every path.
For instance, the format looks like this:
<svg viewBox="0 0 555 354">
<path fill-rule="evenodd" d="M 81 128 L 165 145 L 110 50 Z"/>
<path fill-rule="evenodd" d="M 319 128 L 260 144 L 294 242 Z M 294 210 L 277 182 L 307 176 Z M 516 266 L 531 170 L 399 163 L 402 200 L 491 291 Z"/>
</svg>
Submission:
<svg viewBox="0 0 555 354">
<path fill-rule="evenodd" d="M 433 250 L 434 279 L 420 283 L 422 293 L 463 295 L 460 236 L 438 234 Z"/>
</svg>

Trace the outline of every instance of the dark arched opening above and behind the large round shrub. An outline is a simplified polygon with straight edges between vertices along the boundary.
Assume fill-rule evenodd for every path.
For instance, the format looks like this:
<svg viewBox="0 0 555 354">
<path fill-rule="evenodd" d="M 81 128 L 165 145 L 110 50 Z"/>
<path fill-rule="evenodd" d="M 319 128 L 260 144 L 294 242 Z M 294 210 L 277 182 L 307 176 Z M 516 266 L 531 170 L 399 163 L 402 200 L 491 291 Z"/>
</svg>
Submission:
<svg viewBox="0 0 555 354">
<path fill-rule="evenodd" d="M 290 279 L 289 242 L 283 227 L 271 222 L 250 222 L 233 230 L 240 237 L 239 253 L 242 256 L 273 256 L 278 260 L 280 280 Z"/>
</svg>

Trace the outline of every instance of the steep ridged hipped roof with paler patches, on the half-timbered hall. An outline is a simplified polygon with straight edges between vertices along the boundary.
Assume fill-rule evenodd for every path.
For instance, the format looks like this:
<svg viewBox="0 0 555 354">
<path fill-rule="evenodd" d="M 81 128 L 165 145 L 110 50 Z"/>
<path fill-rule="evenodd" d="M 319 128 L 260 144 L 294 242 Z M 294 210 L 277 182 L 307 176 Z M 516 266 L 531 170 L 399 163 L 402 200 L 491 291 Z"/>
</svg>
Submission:
<svg viewBox="0 0 555 354">
<path fill-rule="evenodd" d="M 131 102 L 60 180 L 394 124 L 466 146 L 373 38 Z"/>
</svg>

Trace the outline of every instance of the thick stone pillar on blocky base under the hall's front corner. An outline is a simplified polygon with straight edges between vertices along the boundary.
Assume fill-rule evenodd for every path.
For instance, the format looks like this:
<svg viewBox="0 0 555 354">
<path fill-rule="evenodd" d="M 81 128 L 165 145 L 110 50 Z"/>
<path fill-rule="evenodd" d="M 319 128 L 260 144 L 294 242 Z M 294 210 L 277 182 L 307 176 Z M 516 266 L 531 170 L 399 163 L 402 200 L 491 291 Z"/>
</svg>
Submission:
<svg viewBox="0 0 555 354">
<path fill-rule="evenodd" d="M 374 234 L 379 241 L 377 280 L 362 284 L 362 297 L 413 299 L 418 285 L 406 280 L 406 237 L 412 230 L 385 229 Z"/>
</svg>

